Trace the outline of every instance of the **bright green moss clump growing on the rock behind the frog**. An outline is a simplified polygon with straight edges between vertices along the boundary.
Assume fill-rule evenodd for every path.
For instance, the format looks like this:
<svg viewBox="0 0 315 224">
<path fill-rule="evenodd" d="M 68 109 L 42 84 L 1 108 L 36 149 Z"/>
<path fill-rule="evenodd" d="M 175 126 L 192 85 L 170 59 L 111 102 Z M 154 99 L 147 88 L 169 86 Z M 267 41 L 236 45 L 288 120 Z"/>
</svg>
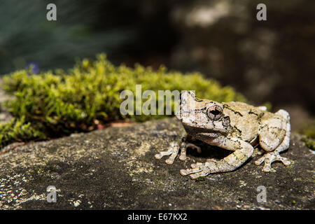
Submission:
<svg viewBox="0 0 315 224">
<path fill-rule="evenodd" d="M 137 84 L 142 85 L 143 92 L 155 91 L 157 97 L 158 90 L 195 90 L 198 97 L 218 102 L 245 101 L 232 87 L 221 87 L 216 80 L 205 79 L 200 73 L 183 75 L 163 66 L 153 71 L 139 64 L 134 69 L 113 66 L 105 55 L 97 55 L 95 61 L 83 59 L 68 72 L 57 69 L 55 73 L 45 71 L 36 75 L 26 70 L 15 71 L 5 76 L 3 82 L 5 90 L 15 96 L 6 104 L 10 113 L 24 118 L 27 127 L 50 137 L 94 130 L 97 125 L 113 120 L 165 117 L 120 113 L 120 104 L 125 100 L 120 99 L 120 92 L 131 90 L 135 95 Z"/>
</svg>

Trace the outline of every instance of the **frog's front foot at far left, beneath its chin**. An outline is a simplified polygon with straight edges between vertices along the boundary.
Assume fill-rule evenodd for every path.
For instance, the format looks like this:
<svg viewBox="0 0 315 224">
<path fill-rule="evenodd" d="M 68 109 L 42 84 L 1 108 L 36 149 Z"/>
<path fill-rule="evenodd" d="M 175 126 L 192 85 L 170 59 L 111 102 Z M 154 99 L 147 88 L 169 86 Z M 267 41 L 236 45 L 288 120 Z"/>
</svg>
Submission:
<svg viewBox="0 0 315 224">
<path fill-rule="evenodd" d="M 179 156 L 179 160 L 184 161 L 187 159 L 186 156 L 186 149 L 187 148 L 195 148 L 198 153 L 201 153 L 201 149 L 198 146 L 195 146 L 194 144 L 186 144 L 183 142 L 181 144 L 181 147 L 179 147 L 179 144 L 176 142 L 172 142 L 171 146 L 169 146 L 168 151 L 163 151 L 155 155 L 155 159 L 160 160 L 163 156 L 169 155 L 169 158 L 165 160 L 165 163 L 168 165 L 172 165 L 174 163 L 174 160 L 176 158 L 176 155 L 179 154 L 179 149 L 181 149 L 181 155 Z"/>
</svg>

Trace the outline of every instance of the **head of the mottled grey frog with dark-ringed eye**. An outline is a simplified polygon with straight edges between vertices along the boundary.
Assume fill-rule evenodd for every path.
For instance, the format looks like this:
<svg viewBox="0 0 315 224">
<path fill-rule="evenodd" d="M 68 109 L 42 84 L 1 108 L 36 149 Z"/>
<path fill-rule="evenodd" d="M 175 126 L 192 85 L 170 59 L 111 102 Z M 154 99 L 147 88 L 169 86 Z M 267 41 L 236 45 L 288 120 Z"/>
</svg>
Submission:
<svg viewBox="0 0 315 224">
<path fill-rule="evenodd" d="M 223 105 L 208 99 L 198 99 L 192 91 L 183 91 L 179 97 L 176 118 L 181 120 L 188 134 L 197 139 L 216 137 L 228 132 L 230 118 Z"/>
</svg>

